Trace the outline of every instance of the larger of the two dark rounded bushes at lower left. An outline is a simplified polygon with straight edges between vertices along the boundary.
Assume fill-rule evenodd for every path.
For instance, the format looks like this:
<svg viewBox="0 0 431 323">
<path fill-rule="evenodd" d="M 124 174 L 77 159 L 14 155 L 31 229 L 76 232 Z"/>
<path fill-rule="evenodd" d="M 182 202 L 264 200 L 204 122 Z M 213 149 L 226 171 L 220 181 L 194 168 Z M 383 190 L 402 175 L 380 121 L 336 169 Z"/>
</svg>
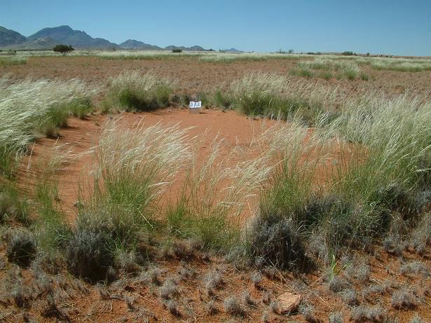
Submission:
<svg viewBox="0 0 431 323">
<path fill-rule="evenodd" d="M 108 268 L 114 263 L 111 237 L 94 228 L 77 228 L 67 245 L 67 266 L 77 277 L 95 283 L 107 279 Z"/>
</svg>

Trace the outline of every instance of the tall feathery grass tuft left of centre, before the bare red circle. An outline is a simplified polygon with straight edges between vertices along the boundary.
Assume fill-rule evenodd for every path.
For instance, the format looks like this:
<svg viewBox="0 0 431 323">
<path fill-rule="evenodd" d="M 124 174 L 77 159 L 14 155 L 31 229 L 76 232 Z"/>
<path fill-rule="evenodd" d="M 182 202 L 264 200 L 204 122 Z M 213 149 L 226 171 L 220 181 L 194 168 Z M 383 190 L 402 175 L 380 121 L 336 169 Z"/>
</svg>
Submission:
<svg viewBox="0 0 431 323">
<path fill-rule="evenodd" d="M 82 228 L 105 228 L 118 245 L 134 245 L 158 220 L 158 200 L 191 158 L 186 130 L 178 125 L 132 129 L 108 123 L 93 150 L 95 169 L 78 215 Z"/>
</svg>

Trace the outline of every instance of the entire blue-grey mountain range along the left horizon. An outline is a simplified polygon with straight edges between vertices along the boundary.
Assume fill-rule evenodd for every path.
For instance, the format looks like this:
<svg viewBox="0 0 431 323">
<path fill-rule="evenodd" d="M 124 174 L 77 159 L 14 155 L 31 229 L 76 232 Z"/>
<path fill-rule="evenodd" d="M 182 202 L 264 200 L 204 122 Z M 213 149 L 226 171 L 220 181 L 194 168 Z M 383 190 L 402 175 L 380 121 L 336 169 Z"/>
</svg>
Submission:
<svg viewBox="0 0 431 323">
<path fill-rule="evenodd" d="M 32 34 L 31 36 L 23 36 L 19 32 L 11 29 L 6 29 L 0 26 L 0 50 L 46 50 L 52 49 L 55 45 L 64 44 L 71 45 L 76 49 L 132 49 L 132 50 L 190 50 L 190 51 L 212 51 L 200 46 L 184 47 L 184 46 L 167 46 L 161 48 L 159 46 L 143 43 L 129 39 L 123 43 L 116 44 L 107 41 L 107 39 L 93 38 L 86 32 L 71 29 L 69 26 L 43 28 Z M 235 48 L 226 50 L 231 52 L 239 52 Z"/>
</svg>

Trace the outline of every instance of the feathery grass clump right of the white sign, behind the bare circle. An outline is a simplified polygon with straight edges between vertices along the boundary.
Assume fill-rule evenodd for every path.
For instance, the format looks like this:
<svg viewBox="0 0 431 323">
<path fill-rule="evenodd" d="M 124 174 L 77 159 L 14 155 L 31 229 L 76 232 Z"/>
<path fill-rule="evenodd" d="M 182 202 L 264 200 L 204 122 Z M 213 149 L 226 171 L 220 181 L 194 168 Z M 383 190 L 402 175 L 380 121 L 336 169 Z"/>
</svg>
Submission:
<svg viewBox="0 0 431 323">
<path fill-rule="evenodd" d="M 228 95 L 242 113 L 315 123 L 334 102 L 335 90 L 276 74 L 252 73 L 233 81 Z"/>
</svg>

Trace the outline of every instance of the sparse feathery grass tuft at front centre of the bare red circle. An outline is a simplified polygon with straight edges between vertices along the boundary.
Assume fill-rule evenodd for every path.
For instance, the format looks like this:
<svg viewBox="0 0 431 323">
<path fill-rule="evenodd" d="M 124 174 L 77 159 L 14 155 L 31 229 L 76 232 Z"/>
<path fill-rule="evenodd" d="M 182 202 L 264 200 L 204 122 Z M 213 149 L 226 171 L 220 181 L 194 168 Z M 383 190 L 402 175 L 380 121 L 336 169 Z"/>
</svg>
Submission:
<svg viewBox="0 0 431 323">
<path fill-rule="evenodd" d="M 182 192 L 170 205 L 167 221 L 175 235 L 226 251 L 238 243 L 244 216 L 250 212 L 245 207 L 259 193 L 272 166 L 266 153 L 231 165 L 233 156 L 221 157 L 222 144 L 222 139 L 214 139 L 202 165 L 197 163 L 198 153 L 193 154 Z M 197 144 L 195 151 L 200 146 Z"/>
</svg>

